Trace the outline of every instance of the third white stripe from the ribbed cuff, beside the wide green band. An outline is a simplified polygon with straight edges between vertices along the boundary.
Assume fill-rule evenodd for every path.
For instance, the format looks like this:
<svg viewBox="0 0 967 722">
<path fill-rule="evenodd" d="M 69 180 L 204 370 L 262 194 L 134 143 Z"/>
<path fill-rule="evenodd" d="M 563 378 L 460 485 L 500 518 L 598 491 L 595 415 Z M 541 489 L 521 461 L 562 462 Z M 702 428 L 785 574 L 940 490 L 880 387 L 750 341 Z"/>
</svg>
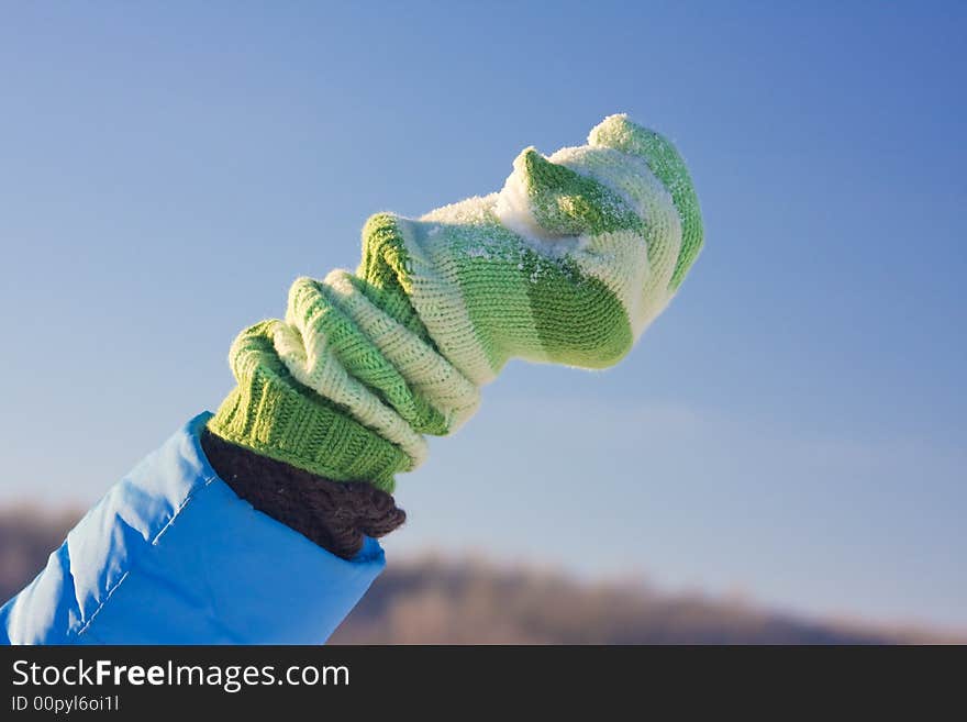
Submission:
<svg viewBox="0 0 967 722">
<path fill-rule="evenodd" d="M 457 268 L 444 243 L 429 233 L 440 226 L 398 219 L 410 260 L 410 302 L 433 341 L 459 371 L 475 385 L 492 381 L 497 374 L 477 337 L 458 282 Z"/>
</svg>

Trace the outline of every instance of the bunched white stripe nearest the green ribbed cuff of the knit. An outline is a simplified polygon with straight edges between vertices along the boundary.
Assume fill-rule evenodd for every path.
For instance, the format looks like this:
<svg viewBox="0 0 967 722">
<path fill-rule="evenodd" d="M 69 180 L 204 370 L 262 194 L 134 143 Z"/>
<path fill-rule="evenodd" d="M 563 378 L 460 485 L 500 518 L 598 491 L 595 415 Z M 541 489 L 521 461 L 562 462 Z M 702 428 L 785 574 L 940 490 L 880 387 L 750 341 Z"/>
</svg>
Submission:
<svg viewBox="0 0 967 722">
<path fill-rule="evenodd" d="M 304 326 L 276 324 L 273 344 L 279 358 L 300 384 L 346 407 L 359 423 L 400 446 L 412 462 L 407 470 L 415 469 L 426 459 L 426 440 L 346 371 L 325 335 L 315 333 L 313 325 L 313 319 L 308 319 Z"/>
</svg>

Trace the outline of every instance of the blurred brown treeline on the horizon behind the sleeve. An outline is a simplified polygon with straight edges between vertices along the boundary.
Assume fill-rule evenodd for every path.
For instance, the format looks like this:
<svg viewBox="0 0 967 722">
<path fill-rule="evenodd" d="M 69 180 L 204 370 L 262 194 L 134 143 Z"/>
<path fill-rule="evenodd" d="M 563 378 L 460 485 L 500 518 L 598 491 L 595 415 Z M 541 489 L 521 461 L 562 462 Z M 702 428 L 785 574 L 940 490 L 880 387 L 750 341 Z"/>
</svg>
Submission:
<svg viewBox="0 0 967 722">
<path fill-rule="evenodd" d="M 0 511 L 0 602 L 46 563 L 76 513 Z M 920 632 L 808 622 L 701 596 L 591 585 L 533 568 L 424 557 L 394 562 L 332 638 L 344 644 L 879 644 Z"/>
</svg>

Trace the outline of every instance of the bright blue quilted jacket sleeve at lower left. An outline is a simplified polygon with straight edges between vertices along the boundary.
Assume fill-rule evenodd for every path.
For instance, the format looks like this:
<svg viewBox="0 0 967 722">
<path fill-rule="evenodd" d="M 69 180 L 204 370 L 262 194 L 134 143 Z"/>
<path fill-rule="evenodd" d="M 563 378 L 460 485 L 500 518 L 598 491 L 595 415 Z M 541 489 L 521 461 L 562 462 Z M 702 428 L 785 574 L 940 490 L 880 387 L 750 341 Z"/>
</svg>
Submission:
<svg viewBox="0 0 967 722">
<path fill-rule="evenodd" d="M 116 484 L 0 609 L 12 644 L 320 644 L 385 565 L 344 560 L 218 478 L 192 419 Z"/>
</svg>

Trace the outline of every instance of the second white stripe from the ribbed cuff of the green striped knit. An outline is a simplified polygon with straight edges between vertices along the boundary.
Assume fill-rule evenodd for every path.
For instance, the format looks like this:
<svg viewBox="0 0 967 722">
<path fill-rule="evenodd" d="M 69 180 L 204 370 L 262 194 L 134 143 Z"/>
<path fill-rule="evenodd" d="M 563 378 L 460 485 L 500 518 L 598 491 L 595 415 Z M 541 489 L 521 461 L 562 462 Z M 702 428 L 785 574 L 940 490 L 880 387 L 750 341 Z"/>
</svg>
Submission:
<svg viewBox="0 0 967 722">
<path fill-rule="evenodd" d="M 373 303 L 352 281 L 348 271 L 336 269 L 323 284 L 340 309 L 359 326 L 386 359 L 447 419 L 455 431 L 477 410 L 480 391 L 416 334 Z"/>
</svg>

